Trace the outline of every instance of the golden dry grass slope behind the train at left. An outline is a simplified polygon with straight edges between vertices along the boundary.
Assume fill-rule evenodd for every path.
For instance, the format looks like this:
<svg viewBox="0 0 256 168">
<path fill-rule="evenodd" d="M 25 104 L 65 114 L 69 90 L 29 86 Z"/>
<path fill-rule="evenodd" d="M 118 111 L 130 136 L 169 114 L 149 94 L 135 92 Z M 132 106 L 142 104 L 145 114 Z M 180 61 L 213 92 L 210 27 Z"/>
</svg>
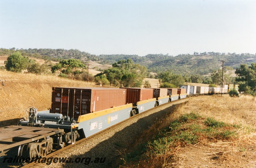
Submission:
<svg viewBox="0 0 256 168">
<path fill-rule="evenodd" d="M 0 126 L 16 125 L 26 117 L 25 110 L 34 106 L 38 110 L 51 107 L 52 87 L 98 87 L 94 83 L 70 80 L 58 76 L 17 74 L 0 71 Z"/>
</svg>

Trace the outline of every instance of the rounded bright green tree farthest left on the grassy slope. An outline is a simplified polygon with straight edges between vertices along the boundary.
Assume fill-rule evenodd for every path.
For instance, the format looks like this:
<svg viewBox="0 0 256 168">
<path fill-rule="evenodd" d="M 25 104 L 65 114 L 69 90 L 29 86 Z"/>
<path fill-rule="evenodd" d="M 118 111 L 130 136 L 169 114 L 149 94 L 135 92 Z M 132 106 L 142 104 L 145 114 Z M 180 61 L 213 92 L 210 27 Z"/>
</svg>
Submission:
<svg viewBox="0 0 256 168">
<path fill-rule="evenodd" d="M 27 68 L 28 59 L 23 57 L 20 52 L 13 52 L 6 61 L 5 68 L 8 71 L 21 73 Z"/>
</svg>

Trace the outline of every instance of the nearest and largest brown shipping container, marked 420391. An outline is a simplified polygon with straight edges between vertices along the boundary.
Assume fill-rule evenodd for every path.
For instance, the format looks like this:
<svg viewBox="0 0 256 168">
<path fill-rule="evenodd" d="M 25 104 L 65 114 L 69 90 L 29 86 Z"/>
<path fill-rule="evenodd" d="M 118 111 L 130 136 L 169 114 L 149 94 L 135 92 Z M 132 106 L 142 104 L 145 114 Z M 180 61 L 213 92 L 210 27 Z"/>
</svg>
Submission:
<svg viewBox="0 0 256 168">
<path fill-rule="evenodd" d="M 52 113 L 78 116 L 125 104 L 126 90 L 117 88 L 52 88 Z"/>
</svg>

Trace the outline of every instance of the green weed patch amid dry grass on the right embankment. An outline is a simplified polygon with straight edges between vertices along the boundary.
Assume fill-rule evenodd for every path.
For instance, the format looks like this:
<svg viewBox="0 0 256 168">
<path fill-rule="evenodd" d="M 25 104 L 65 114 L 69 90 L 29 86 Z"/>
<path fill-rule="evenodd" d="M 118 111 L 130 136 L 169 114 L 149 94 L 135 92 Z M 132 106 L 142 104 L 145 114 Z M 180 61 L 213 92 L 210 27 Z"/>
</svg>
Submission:
<svg viewBox="0 0 256 168">
<path fill-rule="evenodd" d="M 175 154 L 177 147 L 195 145 L 202 141 L 208 143 L 229 141 L 236 138 L 237 134 L 233 129 L 237 127 L 239 126 L 225 124 L 213 118 L 204 118 L 194 112 L 183 114 L 160 130 L 147 144 L 139 145 L 136 151 L 126 154 L 125 162 L 129 164 L 132 161 L 134 166 L 134 163 L 139 165 L 147 160 L 147 165 L 148 163 L 149 165 L 154 163 L 157 166 L 166 165 Z"/>
</svg>

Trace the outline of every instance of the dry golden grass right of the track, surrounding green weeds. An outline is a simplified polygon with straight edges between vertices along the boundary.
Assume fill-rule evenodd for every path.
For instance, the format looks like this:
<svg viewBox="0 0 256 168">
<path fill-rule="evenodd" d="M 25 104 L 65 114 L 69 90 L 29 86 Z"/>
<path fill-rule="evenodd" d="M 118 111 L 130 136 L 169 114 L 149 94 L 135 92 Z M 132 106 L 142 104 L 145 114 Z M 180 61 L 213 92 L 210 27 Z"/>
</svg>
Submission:
<svg viewBox="0 0 256 168">
<path fill-rule="evenodd" d="M 154 137 L 157 130 L 162 130 L 171 121 L 191 112 L 232 125 L 222 129 L 232 131 L 233 137 L 209 140 L 202 136 L 196 144 L 165 144 L 166 141 L 163 141 L 158 144 L 159 146 L 154 146 L 154 143 L 149 143 L 147 152 L 141 157 L 139 165 L 134 162 L 126 166 L 224 168 L 239 165 L 239 167 L 256 167 L 256 99 L 251 96 L 230 98 L 228 95 L 223 95 L 223 97 L 214 95 L 189 98 L 186 104 L 175 109 L 169 117 L 156 122 L 156 125 L 142 135 L 142 139 L 150 140 L 150 136 Z M 186 130 L 193 124 L 195 123 L 189 123 L 181 130 Z M 200 120 L 196 124 L 201 128 L 205 127 Z M 156 154 L 158 147 L 162 148 L 159 148 Z"/>
</svg>

